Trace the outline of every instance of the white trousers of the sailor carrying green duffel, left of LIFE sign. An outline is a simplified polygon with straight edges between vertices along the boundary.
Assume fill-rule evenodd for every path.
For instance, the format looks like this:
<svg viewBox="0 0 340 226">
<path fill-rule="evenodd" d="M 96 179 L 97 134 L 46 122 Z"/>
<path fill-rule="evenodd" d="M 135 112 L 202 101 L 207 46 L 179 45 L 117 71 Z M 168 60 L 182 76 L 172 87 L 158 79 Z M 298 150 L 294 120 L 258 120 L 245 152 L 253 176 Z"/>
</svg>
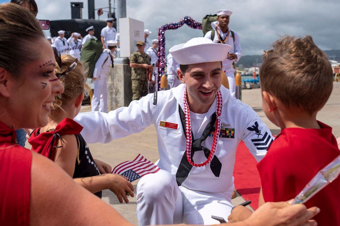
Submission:
<svg viewBox="0 0 340 226">
<path fill-rule="evenodd" d="M 95 88 L 92 96 L 91 111 L 107 113 L 107 82 L 106 78 L 93 80 Z M 99 107 L 98 107 L 99 105 Z"/>
</svg>

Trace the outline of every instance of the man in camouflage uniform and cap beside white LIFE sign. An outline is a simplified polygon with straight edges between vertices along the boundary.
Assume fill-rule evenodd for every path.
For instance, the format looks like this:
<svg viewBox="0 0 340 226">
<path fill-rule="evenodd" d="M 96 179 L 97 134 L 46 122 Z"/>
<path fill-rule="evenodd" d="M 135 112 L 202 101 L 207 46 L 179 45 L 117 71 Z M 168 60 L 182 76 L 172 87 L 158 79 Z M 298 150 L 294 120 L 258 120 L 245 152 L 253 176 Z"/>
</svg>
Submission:
<svg viewBox="0 0 340 226">
<path fill-rule="evenodd" d="M 137 42 L 138 51 L 130 55 L 130 67 L 132 69 L 132 100 L 139 100 L 140 97 L 148 94 L 147 69 L 151 70 L 151 58 L 144 52 L 143 41 Z"/>
</svg>

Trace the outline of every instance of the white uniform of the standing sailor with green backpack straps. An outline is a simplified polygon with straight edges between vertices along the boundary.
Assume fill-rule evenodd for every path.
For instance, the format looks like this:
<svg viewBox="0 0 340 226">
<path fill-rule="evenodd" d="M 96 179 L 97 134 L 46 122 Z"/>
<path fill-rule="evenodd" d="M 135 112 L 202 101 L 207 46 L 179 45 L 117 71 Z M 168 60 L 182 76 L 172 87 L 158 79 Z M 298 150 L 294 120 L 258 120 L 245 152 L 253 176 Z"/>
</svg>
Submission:
<svg viewBox="0 0 340 226">
<path fill-rule="evenodd" d="M 215 43 L 219 42 L 218 35 L 217 35 L 217 32 L 216 32 L 217 23 L 218 23 L 217 21 L 211 23 L 212 28 L 215 29 L 215 37 L 214 37 L 214 39 L 212 39 L 212 41 L 214 41 Z M 230 31 L 229 27 L 228 27 L 228 30 Z M 226 38 L 227 33 L 222 33 L 220 28 L 218 28 L 218 32 L 220 34 L 220 38 L 222 40 L 224 40 Z M 242 56 L 242 49 L 241 49 L 241 44 L 240 44 L 240 36 L 235 31 L 233 31 L 233 32 L 235 34 L 234 39 L 232 37 L 232 33 L 229 32 L 229 36 L 228 36 L 228 39 L 226 40 L 225 44 L 232 46 L 229 53 L 235 53 L 237 55 L 237 59 L 228 60 L 227 58 L 225 58 L 222 61 L 222 71 L 226 74 L 226 76 L 228 78 L 230 94 L 235 97 L 235 89 L 236 89 L 236 87 L 235 87 L 235 75 L 234 75 L 235 69 L 233 68 L 233 62 L 237 63 L 240 60 L 240 58 Z M 211 39 L 211 31 L 208 31 L 204 35 L 204 37 Z"/>
</svg>

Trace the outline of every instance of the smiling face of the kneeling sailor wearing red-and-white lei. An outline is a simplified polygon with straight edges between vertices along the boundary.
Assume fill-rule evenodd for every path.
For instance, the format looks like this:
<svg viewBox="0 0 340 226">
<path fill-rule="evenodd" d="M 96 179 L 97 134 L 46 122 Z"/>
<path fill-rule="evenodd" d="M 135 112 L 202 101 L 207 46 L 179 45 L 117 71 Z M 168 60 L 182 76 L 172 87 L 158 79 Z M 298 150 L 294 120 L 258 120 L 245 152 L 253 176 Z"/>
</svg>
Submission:
<svg viewBox="0 0 340 226">
<path fill-rule="evenodd" d="M 189 64 L 184 74 L 181 70 L 177 74 L 186 84 L 189 109 L 199 114 L 207 112 L 221 87 L 221 62 Z"/>
</svg>

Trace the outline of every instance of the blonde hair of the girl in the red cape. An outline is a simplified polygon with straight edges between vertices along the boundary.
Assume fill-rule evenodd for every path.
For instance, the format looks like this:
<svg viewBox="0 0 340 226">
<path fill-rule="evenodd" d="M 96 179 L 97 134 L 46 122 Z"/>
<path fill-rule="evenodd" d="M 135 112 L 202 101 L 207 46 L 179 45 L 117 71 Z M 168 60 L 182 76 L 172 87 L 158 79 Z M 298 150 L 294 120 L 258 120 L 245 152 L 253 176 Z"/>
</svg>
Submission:
<svg viewBox="0 0 340 226">
<path fill-rule="evenodd" d="M 55 72 L 61 73 L 66 71 L 69 66 L 74 62 L 74 60 L 75 58 L 70 55 L 62 55 L 61 67 L 60 69 L 56 67 Z M 64 85 L 64 92 L 56 96 L 56 100 L 54 101 L 53 108 L 51 110 L 51 115 L 53 115 L 53 113 L 55 112 L 59 112 L 60 110 L 68 108 L 72 100 L 77 98 L 80 94 L 84 93 L 86 70 L 84 69 L 83 64 L 78 61 L 77 67 L 72 69 L 60 80 Z"/>
</svg>

